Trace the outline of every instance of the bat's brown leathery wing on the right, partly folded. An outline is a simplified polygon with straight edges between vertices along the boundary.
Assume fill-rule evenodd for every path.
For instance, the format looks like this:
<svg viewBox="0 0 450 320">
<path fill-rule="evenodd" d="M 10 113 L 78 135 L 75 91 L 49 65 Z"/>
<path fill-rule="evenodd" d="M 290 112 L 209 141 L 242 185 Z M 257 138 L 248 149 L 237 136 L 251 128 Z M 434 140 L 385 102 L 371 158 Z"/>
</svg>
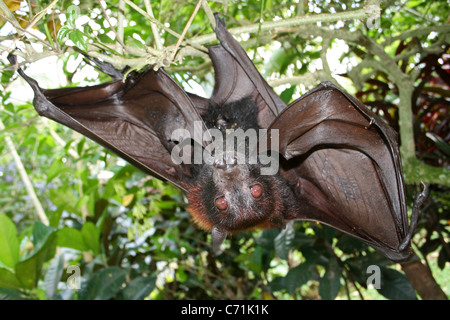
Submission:
<svg viewBox="0 0 450 320">
<path fill-rule="evenodd" d="M 408 234 L 395 132 L 361 102 L 323 83 L 272 123 L 282 174 L 295 186 L 295 220 L 315 220 L 351 234 L 393 260 Z"/>
</svg>

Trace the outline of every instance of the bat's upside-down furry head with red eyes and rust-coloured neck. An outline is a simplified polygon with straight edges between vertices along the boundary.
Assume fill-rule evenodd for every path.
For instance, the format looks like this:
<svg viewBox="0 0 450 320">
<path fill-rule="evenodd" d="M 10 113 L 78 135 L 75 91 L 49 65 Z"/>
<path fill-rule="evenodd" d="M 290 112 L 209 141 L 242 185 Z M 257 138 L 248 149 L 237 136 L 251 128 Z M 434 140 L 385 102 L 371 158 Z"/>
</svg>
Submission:
<svg viewBox="0 0 450 320">
<path fill-rule="evenodd" d="M 218 253 L 227 234 L 284 227 L 289 190 L 279 175 L 261 175 L 260 164 L 240 163 L 236 152 L 225 152 L 212 165 L 202 166 L 188 190 L 187 210 L 197 225 L 212 231 L 213 251 Z"/>
</svg>

